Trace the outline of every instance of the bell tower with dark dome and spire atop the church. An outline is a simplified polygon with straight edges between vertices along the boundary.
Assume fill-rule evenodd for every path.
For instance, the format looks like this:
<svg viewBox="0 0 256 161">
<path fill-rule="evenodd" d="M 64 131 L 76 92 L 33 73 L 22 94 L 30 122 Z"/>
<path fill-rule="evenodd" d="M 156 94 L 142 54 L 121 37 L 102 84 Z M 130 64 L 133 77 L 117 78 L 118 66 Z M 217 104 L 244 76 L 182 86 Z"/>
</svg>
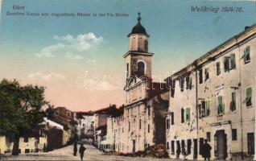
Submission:
<svg viewBox="0 0 256 161">
<path fill-rule="evenodd" d="M 147 31 L 141 24 L 140 13 L 138 13 L 138 23 L 133 27 L 128 35 L 129 51 L 123 56 L 126 60 L 126 77 L 147 76 L 151 78 L 151 56 L 153 53 L 148 52 Z"/>
</svg>

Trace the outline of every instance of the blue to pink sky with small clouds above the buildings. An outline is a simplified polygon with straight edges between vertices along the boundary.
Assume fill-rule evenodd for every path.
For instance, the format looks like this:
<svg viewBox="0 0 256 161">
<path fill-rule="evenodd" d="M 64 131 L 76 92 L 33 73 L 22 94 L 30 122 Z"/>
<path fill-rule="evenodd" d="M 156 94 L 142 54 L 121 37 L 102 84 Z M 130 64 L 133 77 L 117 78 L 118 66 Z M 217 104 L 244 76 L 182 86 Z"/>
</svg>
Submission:
<svg viewBox="0 0 256 161">
<path fill-rule="evenodd" d="M 154 81 L 163 81 L 242 32 L 244 27 L 256 23 L 255 1 L 0 0 L 0 3 L 0 80 L 42 85 L 52 105 L 73 111 L 125 102 L 123 55 L 128 51 L 127 35 L 137 23 L 138 12 L 150 35 L 149 51 L 155 53 Z M 193 12 L 192 7 L 196 6 L 219 10 Z M 222 7 L 241 7 L 241 12 L 223 12 Z M 90 16 L 52 16 L 77 12 Z"/>
</svg>

